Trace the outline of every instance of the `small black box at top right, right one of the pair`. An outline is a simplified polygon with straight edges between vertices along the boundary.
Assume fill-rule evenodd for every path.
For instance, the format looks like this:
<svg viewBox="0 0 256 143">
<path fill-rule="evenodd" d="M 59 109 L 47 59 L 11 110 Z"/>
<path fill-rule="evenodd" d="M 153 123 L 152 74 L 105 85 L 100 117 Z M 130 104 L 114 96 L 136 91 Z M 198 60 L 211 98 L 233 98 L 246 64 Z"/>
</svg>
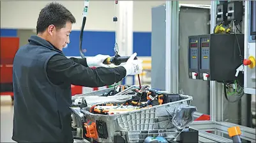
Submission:
<svg viewBox="0 0 256 143">
<path fill-rule="evenodd" d="M 227 4 L 227 20 L 234 20 L 236 24 L 243 20 L 243 1 L 230 1 Z"/>
</svg>

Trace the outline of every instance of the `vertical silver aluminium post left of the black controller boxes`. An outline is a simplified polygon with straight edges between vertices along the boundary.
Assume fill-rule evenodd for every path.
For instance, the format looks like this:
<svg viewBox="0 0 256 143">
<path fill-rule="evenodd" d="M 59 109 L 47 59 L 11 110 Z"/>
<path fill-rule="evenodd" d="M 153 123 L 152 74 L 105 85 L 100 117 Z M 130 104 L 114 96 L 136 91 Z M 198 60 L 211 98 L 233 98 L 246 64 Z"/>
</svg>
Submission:
<svg viewBox="0 0 256 143">
<path fill-rule="evenodd" d="M 179 1 L 166 1 L 165 90 L 179 91 Z"/>
</svg>

